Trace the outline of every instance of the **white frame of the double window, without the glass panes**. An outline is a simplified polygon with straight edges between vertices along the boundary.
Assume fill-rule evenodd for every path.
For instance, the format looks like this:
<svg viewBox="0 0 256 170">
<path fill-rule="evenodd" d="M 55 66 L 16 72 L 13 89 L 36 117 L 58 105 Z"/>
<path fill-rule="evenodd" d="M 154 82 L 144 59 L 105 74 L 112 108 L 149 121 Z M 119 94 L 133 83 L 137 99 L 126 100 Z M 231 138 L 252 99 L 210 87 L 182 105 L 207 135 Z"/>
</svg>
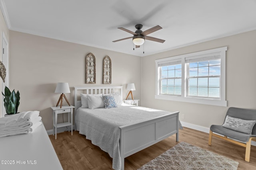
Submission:
<svg viewBox="0 0 256 170">
<path fill-rule="evenodd" d="M 215 105 L 215 106 L 227 106 L 226 101 L 226 51 L 227 47 L 221 47 L 217 49 L 210 49 L 206 51 L 199 51 L 196 53 L 189 53 L 185 55 L 178 55 L 174 57 L 168 57 L 164 59 L 158 59 L 155 61 L 156 63 L 156 94 L 155 99 L 162 99 L 162 100 L 174 100 L 178 102 L 190 102 L 190 103 L 197 103 L 197 104 L 208 104 L 208 105 Z M 189 97 L 186 93 L 187 87 L 187 77 L 186 77 L 186 63 L 185 60 L 188 58 L 201 58 L 204 56 L 209 56 L 212 54 L 219 54 L 220 55 L 220 98 L 202 98 L 202 97 Z M 182 64 L 182 92 L 181 96 L 172 96 L 172 95 L 161 95 L 160 94 L 160 67 L 159 64 L 161 63 L 172 63 L 172 61 L 181 60 Z"/>
</svg>

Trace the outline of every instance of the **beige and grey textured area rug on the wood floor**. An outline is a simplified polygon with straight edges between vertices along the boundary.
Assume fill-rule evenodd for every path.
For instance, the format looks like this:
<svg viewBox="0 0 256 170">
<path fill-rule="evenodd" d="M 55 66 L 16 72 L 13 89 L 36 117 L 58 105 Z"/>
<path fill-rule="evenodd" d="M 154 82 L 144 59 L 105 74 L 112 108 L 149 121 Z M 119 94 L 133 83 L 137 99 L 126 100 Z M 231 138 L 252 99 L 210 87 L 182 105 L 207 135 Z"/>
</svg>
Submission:
<svg viewBox="0 0 256 170">
<path fill-rule="evenodd" d="M 181 142 L 138 170 L 237 170 L 237 168 L 237 161 Z"/>
</svg>

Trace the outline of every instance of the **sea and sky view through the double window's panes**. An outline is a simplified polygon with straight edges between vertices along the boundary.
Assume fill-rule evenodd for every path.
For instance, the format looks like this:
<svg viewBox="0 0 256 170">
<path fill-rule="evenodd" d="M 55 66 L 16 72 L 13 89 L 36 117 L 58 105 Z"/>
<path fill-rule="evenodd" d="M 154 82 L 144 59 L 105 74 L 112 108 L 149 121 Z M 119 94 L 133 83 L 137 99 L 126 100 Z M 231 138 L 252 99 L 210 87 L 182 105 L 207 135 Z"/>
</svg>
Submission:
<svg viewBox="0 0 256 170">
<path fill-rule="evenodd" d="M 186 63 L 186 96 L 220 98 L 220 59 Z M 181 64 L 161 67 L 161 94 L 181 95 Z"/>
</svg>

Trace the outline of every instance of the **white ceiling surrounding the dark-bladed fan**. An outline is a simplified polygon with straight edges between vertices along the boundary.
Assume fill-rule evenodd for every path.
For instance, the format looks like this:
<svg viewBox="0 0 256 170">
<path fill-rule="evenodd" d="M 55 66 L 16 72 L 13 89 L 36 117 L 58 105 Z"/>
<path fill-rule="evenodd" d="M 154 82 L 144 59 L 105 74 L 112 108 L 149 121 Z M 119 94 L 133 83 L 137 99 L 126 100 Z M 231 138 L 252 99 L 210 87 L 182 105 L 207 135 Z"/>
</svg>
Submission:
<svg viewBox="0 0 256 170">
<path fill-rule="evenodd" d="M 0 0 L 10 30 L 146 56 L 256 29 L 256 0 Z M 132 34 L 160 25 L 133 50 Z"/>
</svg>

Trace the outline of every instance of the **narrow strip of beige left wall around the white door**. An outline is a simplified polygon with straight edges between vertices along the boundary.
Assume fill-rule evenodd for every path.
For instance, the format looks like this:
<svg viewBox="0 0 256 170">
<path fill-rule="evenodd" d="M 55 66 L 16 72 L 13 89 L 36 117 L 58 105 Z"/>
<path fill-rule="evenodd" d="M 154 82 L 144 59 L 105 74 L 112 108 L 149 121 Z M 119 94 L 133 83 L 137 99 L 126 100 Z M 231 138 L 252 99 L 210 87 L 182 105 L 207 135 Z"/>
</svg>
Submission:
<svg viewBox="0 0 256 170">
<path fill-rule="evenodd" d="M 3 55 L 3 51 L 2 51 L 3 50 L 2 49 L 2 39 L 3 39 L 3 37 L 2 36 L 3 36 L 3 32 L 4 32 L 4 35 L 7 39 L 7 41 L 9 41 L 9 29 L 8 29 L 6 23 L 5 23 L 4 16 L 2 14 L 2 10 L 0 8 L 0 38 L 1 38 L 1 40 L 0 40 L 0 46 L 1 46 L 0 61 L 3 61 L 2 60 L 2 55 Z M 2 92 L 2 83 L 3 83 L 2 78 L 0 78 L 0 81 L 1 81 L 0 89 L 1 89 L 1 92 Z M 0 117 L 2 117 L 2 107 L 4 107 L 2 103 L 3 103 L 3 96 L 1 94 L 1 98 L 0 98 L 0 112 L 1 112 L 1 114 L 0 114 Z"/>
</svg>

